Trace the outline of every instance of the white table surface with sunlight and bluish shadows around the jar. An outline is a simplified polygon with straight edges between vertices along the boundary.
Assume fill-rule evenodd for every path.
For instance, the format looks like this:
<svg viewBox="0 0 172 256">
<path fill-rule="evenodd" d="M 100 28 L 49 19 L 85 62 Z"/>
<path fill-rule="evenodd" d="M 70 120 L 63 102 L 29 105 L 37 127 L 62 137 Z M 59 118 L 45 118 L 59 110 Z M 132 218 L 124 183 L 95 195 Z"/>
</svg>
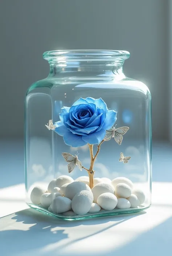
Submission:
<svg viewBox="0 0 172 256">
<path fill-rule="evenodd" d="M 146 212 L 67 222 L 28 209 L 22 143 L 0 145 L 0 256 L 171 255 L 172 146 L 153 145 L 152 206 Z"/>
</svg>

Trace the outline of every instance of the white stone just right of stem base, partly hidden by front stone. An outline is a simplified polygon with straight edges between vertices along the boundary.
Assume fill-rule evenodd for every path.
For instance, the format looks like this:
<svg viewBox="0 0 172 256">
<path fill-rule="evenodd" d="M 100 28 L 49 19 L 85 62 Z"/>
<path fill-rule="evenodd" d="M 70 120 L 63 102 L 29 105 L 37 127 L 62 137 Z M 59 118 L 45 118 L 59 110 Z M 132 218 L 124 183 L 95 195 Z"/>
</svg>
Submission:
<svg viewBox="0 0 172 256">
<path fill-rule="evenodd" d="M 97 199 L 99 195 L 110 192 L 114 194 L 114 187 L 109 183 L 98 183 L 92 188 L 93 196 L 94 196 L 94 203 L 97 203 Z"/>
</svg>

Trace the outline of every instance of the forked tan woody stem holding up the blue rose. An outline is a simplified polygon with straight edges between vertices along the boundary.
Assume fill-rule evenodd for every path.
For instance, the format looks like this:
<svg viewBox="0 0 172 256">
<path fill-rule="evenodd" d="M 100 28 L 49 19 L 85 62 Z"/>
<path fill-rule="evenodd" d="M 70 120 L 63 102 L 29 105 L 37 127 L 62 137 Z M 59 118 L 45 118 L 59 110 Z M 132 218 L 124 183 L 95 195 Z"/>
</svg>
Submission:
<svg viewBox="0 0 172 256">
<path fill-rule="evenodd" d="M 90 150 L 90 158 L 91 158 L 90 169 L 87 170 L 87 172 L 89 174 L 90 188 L 94 187 L 94 170 L 93 170 L 93 167 L 94 167 L 95 159 L 97 158 L 97 156 L 99 154 L 100 147 L 101 147 L 103 142 L 104 142 L 104 140 L 102 140 L 101 143 L 97 146 L 98 150 L 97 150 L 97 153 L 95 154 L 95 156 L 93 155 L 93 145 L 88 144 L 89 150 Z"/>
</svg>

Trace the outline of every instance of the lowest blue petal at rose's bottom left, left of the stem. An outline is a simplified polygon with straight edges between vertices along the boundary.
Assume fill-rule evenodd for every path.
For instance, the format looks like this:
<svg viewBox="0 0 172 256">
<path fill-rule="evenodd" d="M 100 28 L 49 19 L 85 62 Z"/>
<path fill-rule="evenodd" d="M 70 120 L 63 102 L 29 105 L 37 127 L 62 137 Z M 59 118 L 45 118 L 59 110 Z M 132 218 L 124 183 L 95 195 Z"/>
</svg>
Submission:
<svg viewBox="0 0 172 256">
<path fill-rule="evenodd" d="M 64 134 L 64 142 L 66 143 L 66 145 L 68 146 L 72 146 L 72 147 L 81 147 L 87 144 L 87 142 L 82 140 L 82 137 L 86 137 L 86 136 L 81 136 L 81 135 L 75 135 L 73 133 L 71 133 L 70 131 L 67 131 Z"/>
</svg>

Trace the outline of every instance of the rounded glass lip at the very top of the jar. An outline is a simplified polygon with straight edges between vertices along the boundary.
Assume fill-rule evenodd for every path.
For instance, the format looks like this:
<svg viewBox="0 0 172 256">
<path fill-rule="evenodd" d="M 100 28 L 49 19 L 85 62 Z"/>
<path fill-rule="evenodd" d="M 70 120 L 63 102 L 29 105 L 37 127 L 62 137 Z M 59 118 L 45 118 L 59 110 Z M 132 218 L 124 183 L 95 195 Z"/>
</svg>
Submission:
<svg viewBox="0 0 172 256">
<path fill-rule="evenodd" d="M 129 57 L 130 53 L 126 50 L 52 50 L 43 53 L 45 60 L 56 59 L 57 61 L 113 61 L 116 58 L 126 60 Z"/>
</svg>

